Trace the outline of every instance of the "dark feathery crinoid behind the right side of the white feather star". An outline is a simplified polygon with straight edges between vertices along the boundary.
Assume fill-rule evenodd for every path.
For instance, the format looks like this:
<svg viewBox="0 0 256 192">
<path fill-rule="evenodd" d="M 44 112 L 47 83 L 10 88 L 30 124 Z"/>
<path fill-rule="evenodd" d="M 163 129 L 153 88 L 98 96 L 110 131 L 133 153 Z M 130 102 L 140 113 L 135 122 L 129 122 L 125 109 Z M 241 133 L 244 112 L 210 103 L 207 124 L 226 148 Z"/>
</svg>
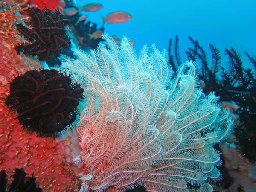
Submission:
<svg viewBox="0 0 256 192">
<path fill-rule="evenodd" d="M 203 92 L 207 95 L 215 92 L 220 97 L 220 101 L 234 101 L 239 109 L 239 122 L 234 128 L 237 150 L 243 157 L 247 157 L 251 163 L 256 161 L 256 73 L 252 68 L 244 67 L 241 55 L 233 47 L 225 49 L 228 58 L 227 67 L 221 63 L 221 54 L 217 47 L 209 44 L 211 60 L 207 57 L 207 52 L 189 36 L 192 47 L 185 51 L 187 58 L 201 64 L 199 78 L 205 82 Z M 169 44 L 169 62 L 172 69 L 177 71 L 177 67 L 182 64 L 179 53 L 179 38 L 176 35 L 174 44 L 172 39 Z M 256 71 L 256 57 L 245 52 L 254 71 Z"/>
</svg>

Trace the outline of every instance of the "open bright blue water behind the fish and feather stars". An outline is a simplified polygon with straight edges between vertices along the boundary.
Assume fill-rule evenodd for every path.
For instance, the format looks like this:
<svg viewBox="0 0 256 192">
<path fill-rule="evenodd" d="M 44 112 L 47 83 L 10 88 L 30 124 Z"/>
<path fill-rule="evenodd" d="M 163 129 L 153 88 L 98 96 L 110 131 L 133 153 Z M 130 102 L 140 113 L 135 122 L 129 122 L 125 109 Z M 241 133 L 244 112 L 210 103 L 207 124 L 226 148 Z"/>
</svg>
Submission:
<svg viewBox="0 0 256 192">
<path fill-rule="evenodd" d="M 209 51 L 209 43 L 215 44 L 224 56 L 224 49 L 237 49 L 245 66 L 249 64 L 244 50 L 256 54 L 256 1 L 255 0 L 84 0 L 77 2 L 101 3 L 103 9 L 88 12 L 87 20 L 102 25 L 101 15 L 113 11 L 126 11 L 132 19 L 126 23 L 105 26 L 105 32 L 122 38 L 126 35 L 136 41 L 137 51 L 144 44 L 157 44 L 167 49 L 169 38 L 180 37 L 180 53 L 191 44 L 187 35 L 197 39 Z M 249 66 L 248 66 L 249 67 Z"/>
</svg>

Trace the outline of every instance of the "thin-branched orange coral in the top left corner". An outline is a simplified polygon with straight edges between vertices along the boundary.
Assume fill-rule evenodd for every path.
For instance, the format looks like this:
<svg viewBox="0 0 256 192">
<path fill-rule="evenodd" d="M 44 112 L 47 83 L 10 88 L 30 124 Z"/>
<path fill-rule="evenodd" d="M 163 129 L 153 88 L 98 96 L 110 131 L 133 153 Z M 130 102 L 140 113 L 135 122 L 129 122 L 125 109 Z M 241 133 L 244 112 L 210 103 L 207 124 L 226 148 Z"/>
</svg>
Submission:
<svg viewBox="0 0 256 192">
<path fill-rule="evenodd" d="M 23 0 L 0 0 L 0 38 L 8 39 L 10 36 L 16 41 L 24 41 L 16 30 L 15 24 L 29 20 L 29 17 L 20 15 L 28 7 L 21 7 Z"/>
</svg>

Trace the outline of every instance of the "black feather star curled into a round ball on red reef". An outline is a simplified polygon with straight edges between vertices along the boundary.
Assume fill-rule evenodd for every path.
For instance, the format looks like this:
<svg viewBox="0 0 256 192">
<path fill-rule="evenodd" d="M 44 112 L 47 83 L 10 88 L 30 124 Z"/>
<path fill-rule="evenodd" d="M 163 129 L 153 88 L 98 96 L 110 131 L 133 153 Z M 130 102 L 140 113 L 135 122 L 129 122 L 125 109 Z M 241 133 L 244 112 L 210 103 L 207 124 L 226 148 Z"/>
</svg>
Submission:
<svg viewBox="0 0 256 192">
<path fill-rule="evenodd" d="M 6 105 L 23 128 L 50 136 L 76 120 L 84 90 L 56 70 L 31 70 L 10 82 Z"/>
</svg>

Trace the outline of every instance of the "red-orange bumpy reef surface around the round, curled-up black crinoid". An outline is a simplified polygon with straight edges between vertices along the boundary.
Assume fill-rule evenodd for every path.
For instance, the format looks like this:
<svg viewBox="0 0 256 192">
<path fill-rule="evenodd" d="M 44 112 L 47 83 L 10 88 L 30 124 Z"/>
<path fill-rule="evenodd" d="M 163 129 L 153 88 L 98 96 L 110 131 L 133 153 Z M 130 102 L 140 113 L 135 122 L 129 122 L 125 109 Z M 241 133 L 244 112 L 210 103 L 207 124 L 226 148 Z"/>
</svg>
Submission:
<svg viewBox="0 0 256 192">
<path fill-rule="evenodd" d="M 28 70 L 42 69 L 39 61 L 23 54 L 17 55 L 9 41 L 0 41 L 0 93 L 8 94 L 8 81 Z M 77 191 L 80 186 L 77 167 L 73 164 L 74 148 L 79 148 L 76 130 L 68 130 L 65 137 L 37 137 L 22 131 L 16 114 L 10 113 L 5 100 L 0 99 L 0 170 L 10 176 L 15 167 L 34 173 L 44 192 Z M 77 145 L 77 146 L 76 146 Z"/>
</svg>

